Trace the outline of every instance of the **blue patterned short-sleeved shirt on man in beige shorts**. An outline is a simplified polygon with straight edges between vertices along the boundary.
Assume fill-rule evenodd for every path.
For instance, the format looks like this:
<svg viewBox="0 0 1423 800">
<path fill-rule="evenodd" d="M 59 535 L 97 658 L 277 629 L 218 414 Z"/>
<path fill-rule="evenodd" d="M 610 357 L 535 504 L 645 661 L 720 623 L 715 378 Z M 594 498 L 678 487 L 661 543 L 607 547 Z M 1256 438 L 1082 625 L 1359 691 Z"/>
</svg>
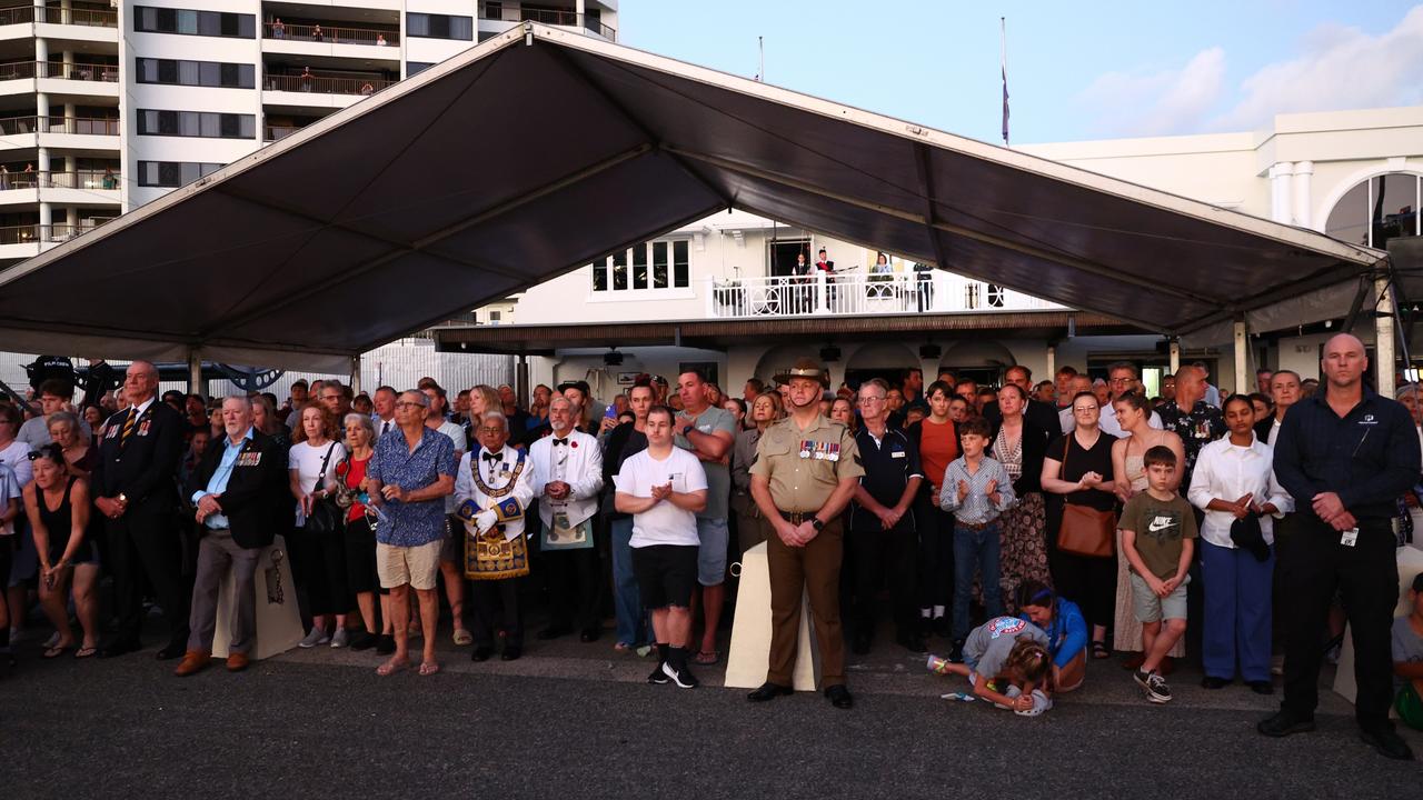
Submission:
<svg viewBox="0 0 1423 800">
<path fill-rule="evenodd" d="M 440 475 L 455 475 L 454 441 L 448 436 L 421 427 L 420 444 L 410 451 L 406 431 L 391 428 L 376 441 L 376 453 L 366 474 L 383 485 L 398 485 L 406 491 L 425 488 Z M 387 500 L 381 507 L 384 520 L 376 525 L 376 541 L 394 547 L 420 547 L 445 535 L 444 498 L 420 502 Z"/>
</svg>

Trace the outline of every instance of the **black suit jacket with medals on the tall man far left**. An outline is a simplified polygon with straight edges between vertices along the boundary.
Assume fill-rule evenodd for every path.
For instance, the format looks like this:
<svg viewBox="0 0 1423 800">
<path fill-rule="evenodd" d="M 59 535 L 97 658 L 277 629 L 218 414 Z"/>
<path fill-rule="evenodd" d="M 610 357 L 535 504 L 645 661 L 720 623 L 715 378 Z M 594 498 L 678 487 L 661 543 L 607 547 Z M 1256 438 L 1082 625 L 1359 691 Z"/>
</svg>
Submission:
<svg viewBox="0 0 1423 800">
<path fill-rule="evenodd" d="M 98 463 L 90 475 L 94 497 L 128 498 L 128 512 L 147 508 L 168 510 L 176 502 L 178 463 L 182 460 L 184 431 L 188 421 L 159 399 L 154 399 L 122 443 L 128 409 L 104 424 L 98 444 Z"/>
</svg>

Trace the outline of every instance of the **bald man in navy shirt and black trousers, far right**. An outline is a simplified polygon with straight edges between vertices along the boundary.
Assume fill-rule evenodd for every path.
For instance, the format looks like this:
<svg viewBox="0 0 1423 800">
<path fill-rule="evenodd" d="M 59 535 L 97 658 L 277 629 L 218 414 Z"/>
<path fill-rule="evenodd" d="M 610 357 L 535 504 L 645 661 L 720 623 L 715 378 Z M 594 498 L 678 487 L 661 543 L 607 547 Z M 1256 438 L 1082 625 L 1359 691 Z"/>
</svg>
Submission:
<svg viewBox="0 0 1423 800">
<path fill-rule="evenodd" d="M 1315 729 L 1319 632 L 1342 592 L 1353 632 L 1360 737 L 1389 759 L 1412 760 L 1389 722 L 1390 625 L 1399 598 L 1393 517 L 1397 498 L 1419 483 L 1419 437 L 1407 409 L 1363 384 L 1363 342 L 1335 336 L 1319 366 L 1321 391 L 1285 414 L 1275 440 L 1275 475 L 1295 498 L 1296 522 L 1276 545 L 1285 699 L 1258 729 L 1276 737 Z"/>
</svg>

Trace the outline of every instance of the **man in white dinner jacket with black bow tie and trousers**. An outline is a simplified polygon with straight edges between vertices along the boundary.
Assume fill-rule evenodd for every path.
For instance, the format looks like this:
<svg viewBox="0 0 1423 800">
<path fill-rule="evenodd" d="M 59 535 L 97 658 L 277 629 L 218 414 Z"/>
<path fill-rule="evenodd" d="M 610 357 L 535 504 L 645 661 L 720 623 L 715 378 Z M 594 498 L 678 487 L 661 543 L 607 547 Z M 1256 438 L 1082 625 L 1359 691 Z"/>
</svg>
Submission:
<svg viewBox="0 0 1423 800">
<path fill-rule="evenodd" d="M 534 464 L 534 497 L 544 522 L 539 557 L 548 569 L 552 601 L 548 628 L 539 639 L 573 632 L 583 642 L 598 641 L 598 548 L 593 515 L 603 488 L 603 454 L 598 440 L 573 430 L 578 406 L 554 396 L 548 404 L 552 436 L 529 446 Z"/>
</svg>

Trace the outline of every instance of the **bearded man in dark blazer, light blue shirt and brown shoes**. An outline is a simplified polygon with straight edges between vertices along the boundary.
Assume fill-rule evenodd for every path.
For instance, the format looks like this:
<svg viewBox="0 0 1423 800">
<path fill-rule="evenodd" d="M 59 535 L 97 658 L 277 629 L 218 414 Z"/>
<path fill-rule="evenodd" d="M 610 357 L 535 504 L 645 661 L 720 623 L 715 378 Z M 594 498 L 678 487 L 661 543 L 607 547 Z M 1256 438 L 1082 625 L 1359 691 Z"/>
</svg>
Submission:
<svg viewBox="0 0 1423 800">
<path fill-rule="evenodd" d="M 185 488 L 198 507 L 202 540 L 188 619 L 192 632 L 182 663 L 174 672 L 178 678 L 208 666 L 218 621 L 218 588 L 229 565 L 236 602 L 229 626 L 228 672 L 246 669 L 256 632 L 253 578 L 258 561 L 292 508 L 286 453 L 275 438 L 252 427 L 252 400 L 243 396 L 223 400 L 222 427 L 228 431 L 226 438 L 208 446 Z"/>
</svg>

